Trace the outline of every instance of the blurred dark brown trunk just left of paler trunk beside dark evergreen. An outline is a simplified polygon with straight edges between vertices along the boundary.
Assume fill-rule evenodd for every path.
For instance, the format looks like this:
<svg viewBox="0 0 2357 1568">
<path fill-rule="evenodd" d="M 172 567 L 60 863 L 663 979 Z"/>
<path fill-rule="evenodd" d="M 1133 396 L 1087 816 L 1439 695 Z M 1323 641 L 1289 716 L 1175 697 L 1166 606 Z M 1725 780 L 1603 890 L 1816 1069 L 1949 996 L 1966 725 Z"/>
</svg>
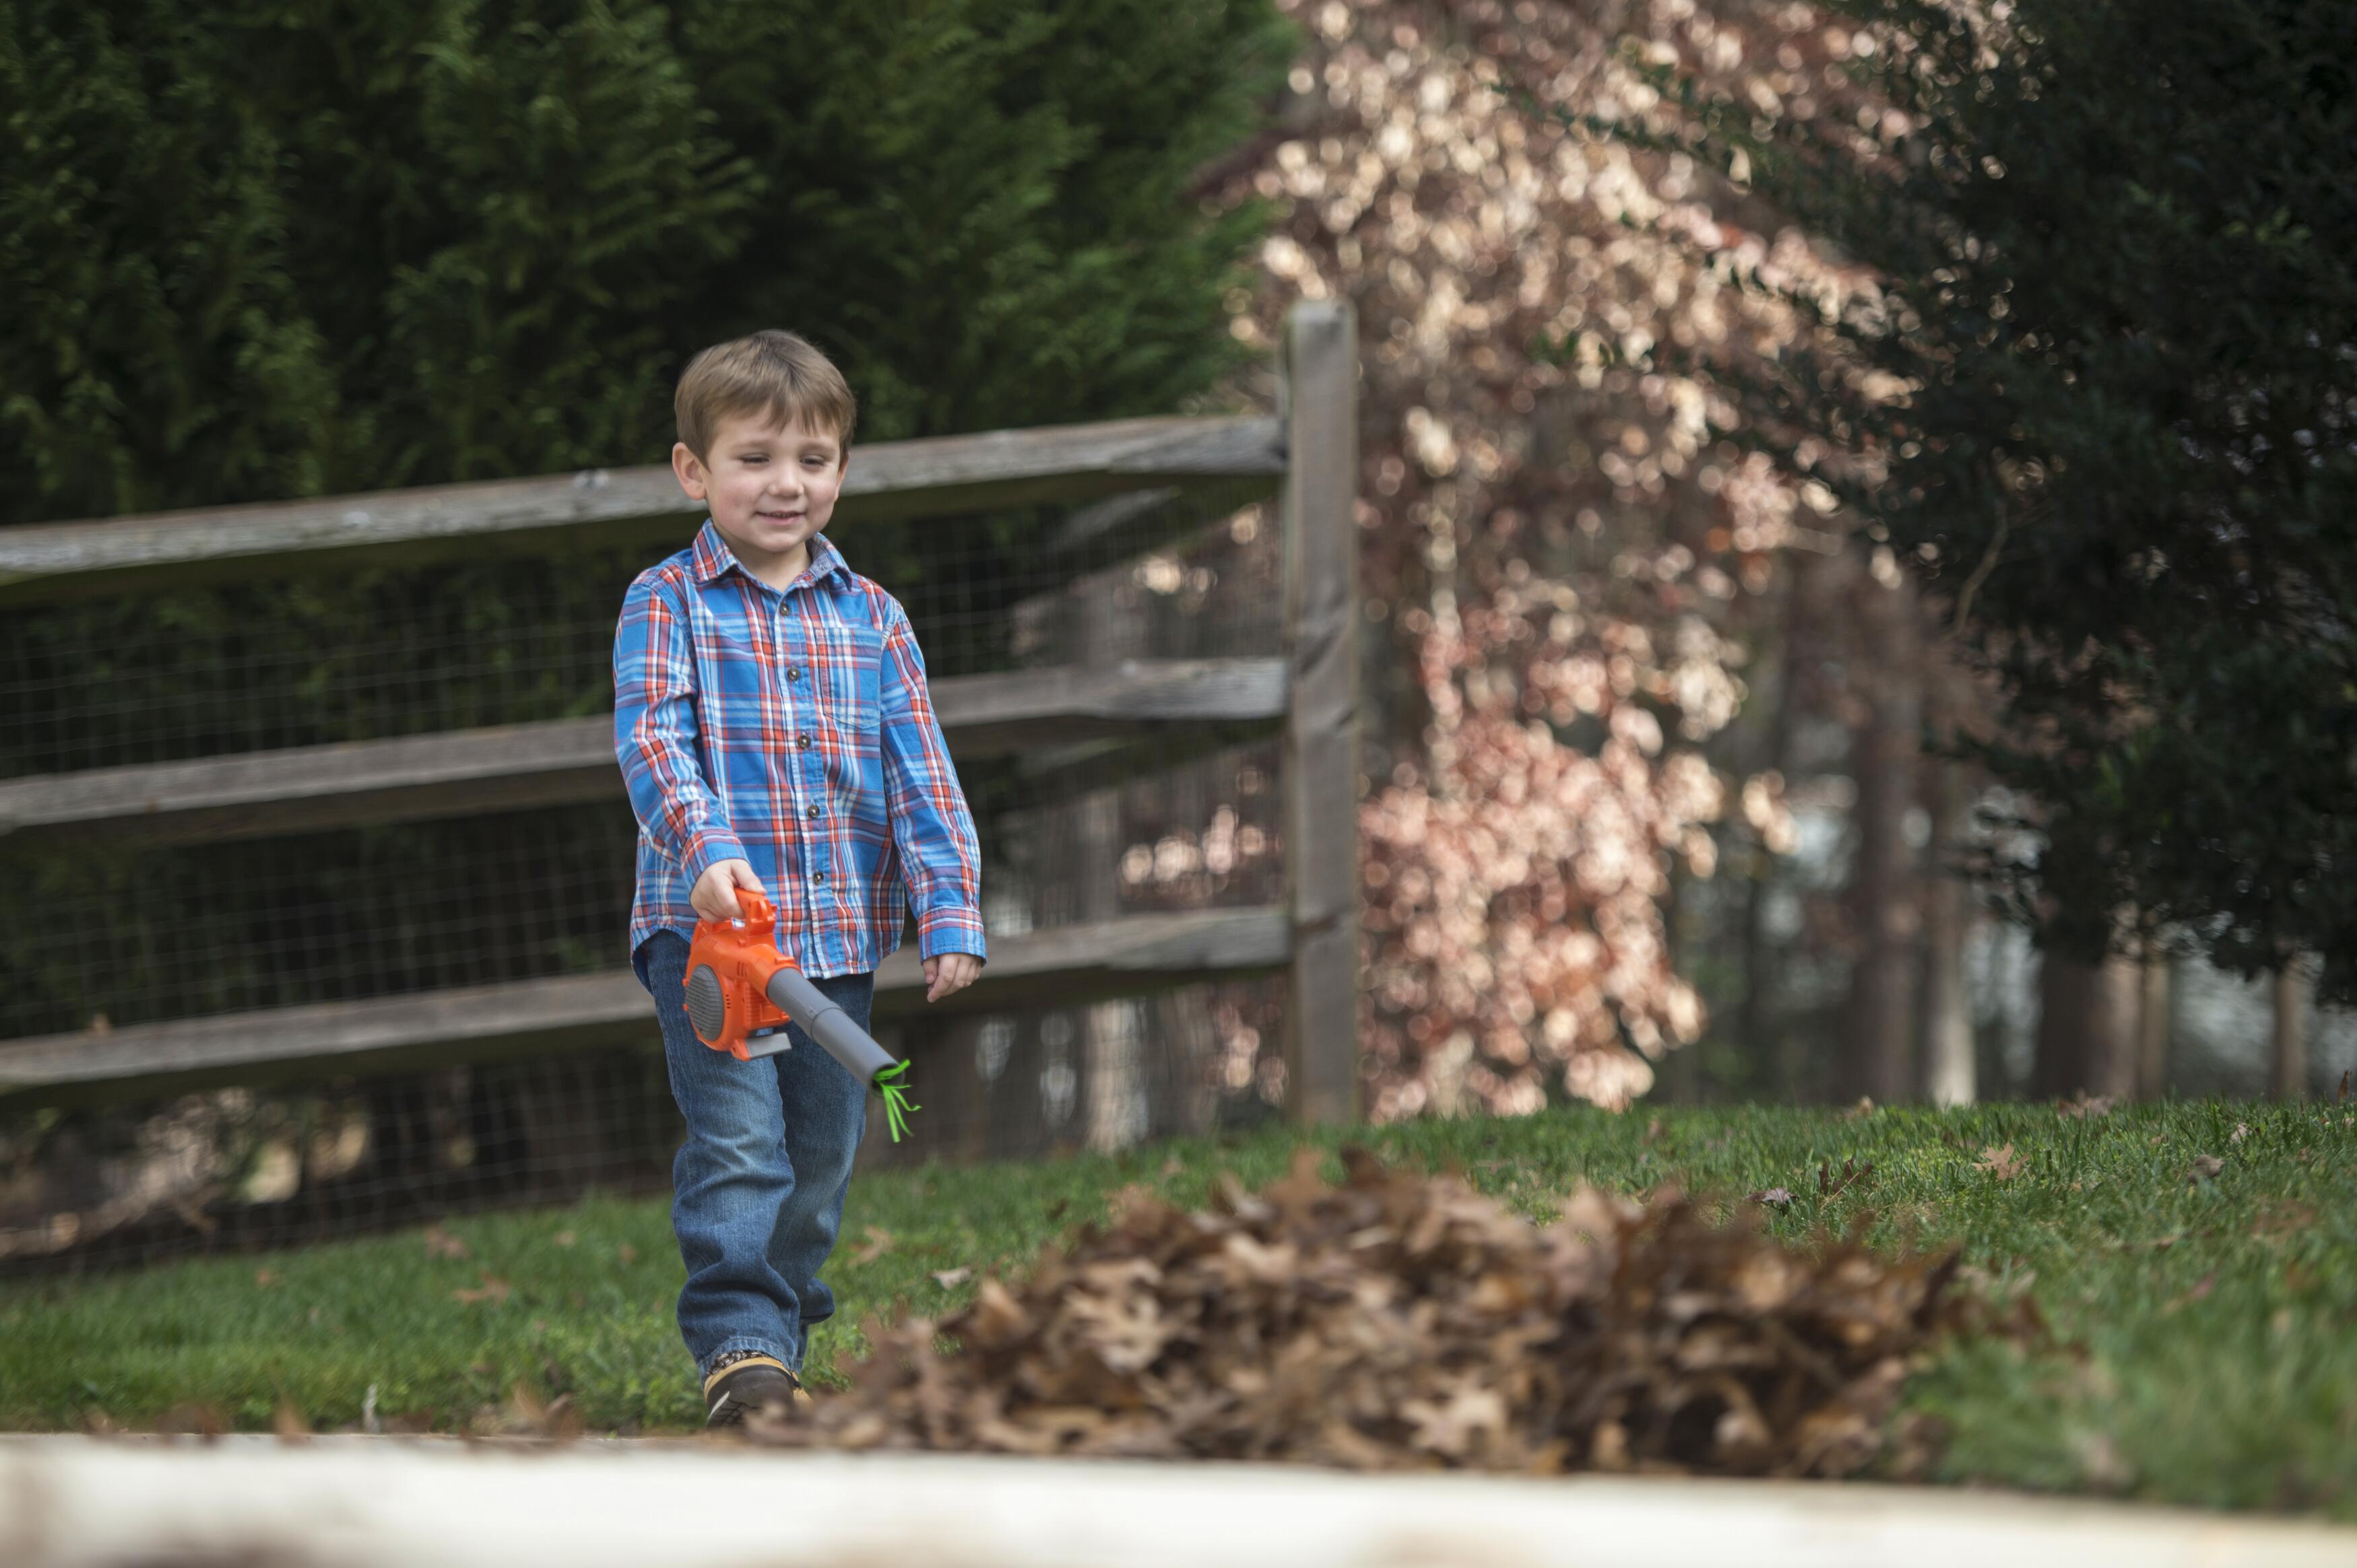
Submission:
<svg viewBox="0 0 2357 1568">
<path fill-rule="evenodd" d="M 1888 560 L 1888 551 L 1876 551 Z M 1886 572 L 1895 567 L 1883 567 Z M 1857 779 L 1857 965 L 1850 972 L 1850 1088 L 1881 1104 L 1916 1092 L 1916 965 L 1921 881 L 1907 845 L 1923 765 L 1923 636 L 1914 582 L 1857 582 L 1864 718 L 1853 742 Z"/>
</svg>

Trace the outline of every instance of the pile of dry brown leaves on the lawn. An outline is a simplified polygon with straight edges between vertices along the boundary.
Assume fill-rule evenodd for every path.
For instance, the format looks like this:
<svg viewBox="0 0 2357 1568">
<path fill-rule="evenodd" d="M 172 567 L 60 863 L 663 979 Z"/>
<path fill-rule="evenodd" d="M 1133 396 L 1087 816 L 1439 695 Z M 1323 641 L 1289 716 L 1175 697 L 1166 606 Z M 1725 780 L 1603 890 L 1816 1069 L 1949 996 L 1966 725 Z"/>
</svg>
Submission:
<svg viewBox="0 0 2357 1568">
<path fill-rule="evenodd" d="M 1110 1229 L 870 1326 L 806 1448 L 1303 1460 L 1351 1469 L 1838 1476 L 1912 1361 L 1982 1314 L 1954 1255 L 1810 1250 L 1690 1198 L 1579 1191 L 1534 1227 L 1454 1177 L 1315 1151 L 1214 1212 L 1129 1191 Z M 950 1340 L 952 1344 L 943 1344 Z"/>
</svg>

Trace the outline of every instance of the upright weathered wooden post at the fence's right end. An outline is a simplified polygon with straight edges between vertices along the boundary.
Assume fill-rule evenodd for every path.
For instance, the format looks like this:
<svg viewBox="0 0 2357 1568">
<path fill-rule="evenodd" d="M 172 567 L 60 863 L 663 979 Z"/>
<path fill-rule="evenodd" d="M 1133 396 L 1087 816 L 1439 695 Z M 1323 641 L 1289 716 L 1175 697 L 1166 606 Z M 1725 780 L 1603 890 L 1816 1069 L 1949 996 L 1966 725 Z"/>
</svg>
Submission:
<svg viewBox="0 0 2357 1568">
<path fill-rule="evenodd" d="M 1285 850 L 1292 986 L 1285 1097 L 1351 1123 L 1358 1083 L 1358 323 L 1313 301 L 1285 320 Z"/>
</svg>

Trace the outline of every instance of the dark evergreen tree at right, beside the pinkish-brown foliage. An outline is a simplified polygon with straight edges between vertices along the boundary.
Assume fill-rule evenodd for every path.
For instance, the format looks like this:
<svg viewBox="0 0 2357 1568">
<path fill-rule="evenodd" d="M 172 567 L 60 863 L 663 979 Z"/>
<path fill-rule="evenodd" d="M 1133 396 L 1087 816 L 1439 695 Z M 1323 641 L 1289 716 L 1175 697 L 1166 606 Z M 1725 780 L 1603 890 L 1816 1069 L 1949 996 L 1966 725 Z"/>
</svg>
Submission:
<svg viewBox="0 0 2357 1568">
<path fill-rule="evenodd" d="M 2051 939 L 2133 909 L 2239 970 L 2324 951 L 2357 994 L 2348 7 L 1836 9 L 1876 42 L 1836 68 L 1869 129 L 1697 92 L 1666 137 L 1615 127 L 1747 170 L 1876 280 L 1813 353 L 1723 367 L 1749 428 L 1855 454 L 1817 473 L 1996 673 Z"/>
</svg>

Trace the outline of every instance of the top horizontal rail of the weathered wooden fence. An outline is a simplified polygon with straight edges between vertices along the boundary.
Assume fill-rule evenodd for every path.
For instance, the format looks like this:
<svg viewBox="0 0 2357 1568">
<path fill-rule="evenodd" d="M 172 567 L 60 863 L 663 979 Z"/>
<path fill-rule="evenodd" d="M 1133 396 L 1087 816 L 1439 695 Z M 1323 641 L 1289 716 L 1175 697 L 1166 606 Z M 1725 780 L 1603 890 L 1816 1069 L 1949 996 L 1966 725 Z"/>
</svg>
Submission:
<svg viewBox="0 0 2357 1568">
<path fill-rule="evenodd" d="M 1282 473 L 1285 433 L 1275 419 L 1117 419 L 882 440 L 853 447 L 837 527 Z M 669 469 L 585 469 L 269 506 L 33 523 L 0 530 L 0 603 L 285 570 L 330 551 L 417 560 L 486 549 L 544 551 L 549 534 L 568 546 L 618 544 L 702 509 Z"/>
</svg>

